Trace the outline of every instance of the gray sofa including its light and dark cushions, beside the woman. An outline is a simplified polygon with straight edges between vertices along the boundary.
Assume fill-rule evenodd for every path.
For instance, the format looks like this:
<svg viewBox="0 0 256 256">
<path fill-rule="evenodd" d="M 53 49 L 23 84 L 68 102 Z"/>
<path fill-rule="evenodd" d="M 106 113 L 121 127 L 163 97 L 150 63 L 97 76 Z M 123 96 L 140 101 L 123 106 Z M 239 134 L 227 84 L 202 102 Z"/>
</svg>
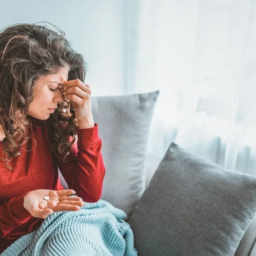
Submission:
<svg viewBox="0 0 256 256">
<path fill-rule="evenodd" d="M 174 142 L 162 159 L 148 154 L 159 94 L 92 97 L 106 167 L 101 199 L 127 214 L 139 256 L 256 255 L 255 176 Z"/>
</svg>

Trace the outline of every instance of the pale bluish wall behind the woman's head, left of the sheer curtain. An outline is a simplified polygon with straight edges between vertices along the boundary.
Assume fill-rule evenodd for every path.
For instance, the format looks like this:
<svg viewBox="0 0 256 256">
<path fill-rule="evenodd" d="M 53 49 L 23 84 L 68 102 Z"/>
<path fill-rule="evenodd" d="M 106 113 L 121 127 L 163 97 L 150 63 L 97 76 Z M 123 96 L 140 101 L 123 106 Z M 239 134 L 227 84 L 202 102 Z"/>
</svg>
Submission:
<svg viewBox="0 0 256 256">
<path fill-rule="evenodd" d="M 0 1 L 0 29 L 48 21 L 60 27 L 89 69 L 92 96 L 126 92 L 126 0 Z"/>
</svg>

